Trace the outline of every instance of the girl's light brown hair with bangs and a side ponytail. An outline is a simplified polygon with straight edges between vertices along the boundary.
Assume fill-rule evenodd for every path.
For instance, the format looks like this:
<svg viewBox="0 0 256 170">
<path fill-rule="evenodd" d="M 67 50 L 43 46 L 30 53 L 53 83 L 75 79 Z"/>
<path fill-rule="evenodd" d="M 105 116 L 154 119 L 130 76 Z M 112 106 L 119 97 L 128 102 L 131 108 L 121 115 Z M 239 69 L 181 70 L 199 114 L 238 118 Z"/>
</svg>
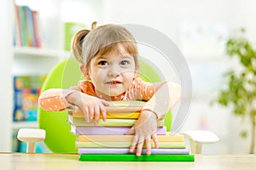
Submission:
<svg viewBox="0 0 256 170">
<path fill-rule="evenodd" d="M 113 52 L 117 49 L 117 44 L 121 43 L 133 56 L 138 67 L 137 43 L 125 27 L 113 24 L 95 27 L 96 22 L 92 24 L 91 31 L 84 29 L 78 31 L 73 37 L 71 48 L 79 63 L 88 67 L 91 58 L 97 54 L 104 55 Z"/>
</svg>

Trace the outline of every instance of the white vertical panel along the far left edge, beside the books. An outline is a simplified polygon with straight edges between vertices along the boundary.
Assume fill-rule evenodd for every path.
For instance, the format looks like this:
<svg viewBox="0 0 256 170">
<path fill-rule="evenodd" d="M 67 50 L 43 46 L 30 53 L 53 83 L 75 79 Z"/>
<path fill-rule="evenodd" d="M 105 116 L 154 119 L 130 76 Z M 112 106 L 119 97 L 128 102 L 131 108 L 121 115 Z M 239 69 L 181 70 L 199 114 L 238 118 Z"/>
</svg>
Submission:
<svg viewBox="0 0 256 170">
<path fill-rule="evenodd" d="M 0 150 L 9 151 L 11 150 L 11 137 L 9 135 L 11 129 L 12 116 L 8 113 L 12 113 L 12 70 L 9 65 L 12 65 L 12 2 L 3 1 L 0 5 L 0 37 L 3 41 L 0 42 L 0 77 L 1 77 L 1 88 L 0 88 Z"/>
</svg>

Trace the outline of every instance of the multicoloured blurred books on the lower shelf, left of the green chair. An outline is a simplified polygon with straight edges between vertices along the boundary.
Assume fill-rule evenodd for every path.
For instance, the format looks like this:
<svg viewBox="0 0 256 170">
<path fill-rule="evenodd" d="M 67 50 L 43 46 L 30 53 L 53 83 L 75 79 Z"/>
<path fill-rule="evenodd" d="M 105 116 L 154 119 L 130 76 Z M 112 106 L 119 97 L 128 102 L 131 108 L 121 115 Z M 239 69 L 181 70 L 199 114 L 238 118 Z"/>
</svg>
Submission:
<svg viewBox="0 0 256 170">
<path fill-rule="evenodd" d="M 13 120 L 37 121 L 38 97 L 46 76 L 14 77 Z"/>
</svg>

